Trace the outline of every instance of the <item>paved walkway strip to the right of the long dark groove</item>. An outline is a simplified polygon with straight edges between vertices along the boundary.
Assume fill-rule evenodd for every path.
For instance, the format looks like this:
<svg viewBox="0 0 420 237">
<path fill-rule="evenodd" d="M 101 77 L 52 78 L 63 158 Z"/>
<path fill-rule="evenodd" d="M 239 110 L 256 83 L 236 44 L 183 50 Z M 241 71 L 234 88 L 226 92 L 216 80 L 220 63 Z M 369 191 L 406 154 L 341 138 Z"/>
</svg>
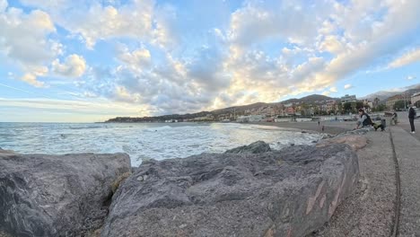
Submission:
<svg viewBox="0 0 420 237">
<path fill-rule="evenodd" d="M 420 142 L 402 127 L 390 129 L 401 180 L 399 236 L 420 236 Z"/>
</svg>

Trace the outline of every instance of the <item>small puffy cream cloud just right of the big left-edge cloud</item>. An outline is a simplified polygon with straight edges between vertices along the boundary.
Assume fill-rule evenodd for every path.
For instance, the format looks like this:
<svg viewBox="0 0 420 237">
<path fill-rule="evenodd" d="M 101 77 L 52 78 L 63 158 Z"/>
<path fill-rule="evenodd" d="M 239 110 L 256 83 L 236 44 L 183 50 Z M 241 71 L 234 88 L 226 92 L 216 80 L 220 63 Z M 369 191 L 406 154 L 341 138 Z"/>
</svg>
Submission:
<svg viewBox="0 0 420 237">
<path fill-rule="evenodd" d="M 86 70 L 86 61 L 82 56 L 73 54 L 66 57 L 66 61 L 63 64 L 60 64 L 58 59 L 54 60 L 51 67 L 57 75 L 80 77 Z"/>
</svg>

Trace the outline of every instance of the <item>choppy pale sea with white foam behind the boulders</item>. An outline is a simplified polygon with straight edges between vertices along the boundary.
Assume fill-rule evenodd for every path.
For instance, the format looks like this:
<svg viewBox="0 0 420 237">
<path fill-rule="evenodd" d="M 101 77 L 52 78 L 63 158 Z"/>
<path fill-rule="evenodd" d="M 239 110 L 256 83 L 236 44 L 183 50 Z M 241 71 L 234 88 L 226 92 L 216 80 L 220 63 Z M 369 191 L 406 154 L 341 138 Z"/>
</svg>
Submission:
<svg viewBox="0 0 420 237">
<path fill-rule="evenodd" d="M 21 154 L 127 153 L 148 159 L 223 153 L 258 140 L 272 149 L 311 145 L 321 134 L 239 123 L 0 123 L 0 147 Z"/>
</svg>

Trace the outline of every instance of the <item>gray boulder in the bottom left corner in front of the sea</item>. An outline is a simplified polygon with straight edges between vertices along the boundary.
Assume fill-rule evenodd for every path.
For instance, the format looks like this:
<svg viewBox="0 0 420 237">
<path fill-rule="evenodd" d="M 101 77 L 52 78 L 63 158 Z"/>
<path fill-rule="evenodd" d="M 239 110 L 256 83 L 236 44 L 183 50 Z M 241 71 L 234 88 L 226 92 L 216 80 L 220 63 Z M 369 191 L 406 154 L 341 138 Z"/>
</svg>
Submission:
<svg viewBox="0 0 420 237">
<path fill-rule="evenodd" d="M 0 230 L 13 236 L 80 236 L 100 228 L 127 154 L 0 151 Z M 114 188 L 115 189 L 115 188 Z"/>
</svg>

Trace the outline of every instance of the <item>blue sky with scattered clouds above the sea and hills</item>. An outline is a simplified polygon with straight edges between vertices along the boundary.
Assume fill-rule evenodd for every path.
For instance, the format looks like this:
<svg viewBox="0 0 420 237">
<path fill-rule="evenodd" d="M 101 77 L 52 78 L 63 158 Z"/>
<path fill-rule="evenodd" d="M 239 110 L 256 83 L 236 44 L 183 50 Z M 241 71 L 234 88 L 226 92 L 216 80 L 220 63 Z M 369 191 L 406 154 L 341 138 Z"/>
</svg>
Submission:
<svg viewBox="0 0 420 237">
<path fill-rule="evenodd" d="M 418 0 L 0 0 L 0 122 L 99 122 L 420 83 Z"/>
</svg>

